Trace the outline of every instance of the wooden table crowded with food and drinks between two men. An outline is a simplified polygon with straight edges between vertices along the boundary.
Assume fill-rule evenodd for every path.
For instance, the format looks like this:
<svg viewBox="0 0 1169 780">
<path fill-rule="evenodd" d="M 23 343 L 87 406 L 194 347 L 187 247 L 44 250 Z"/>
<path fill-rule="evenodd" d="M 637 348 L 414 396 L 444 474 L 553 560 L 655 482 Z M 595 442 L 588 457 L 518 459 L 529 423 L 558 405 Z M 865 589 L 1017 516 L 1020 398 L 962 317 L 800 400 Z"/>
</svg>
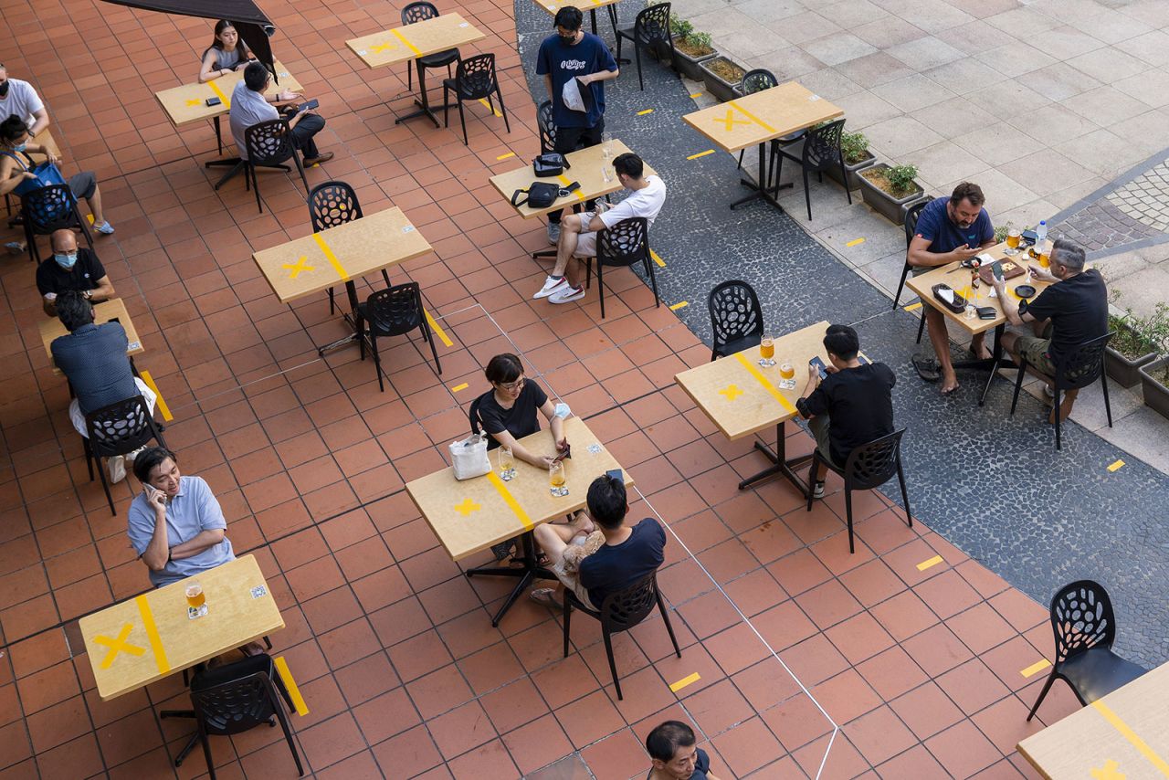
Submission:
<svg viewBox="0 0 1169 780">
<path fill-rule="evenodd" d="M 1026 250 L 1021 251 L 1014 257 L 1009 257 L 1004 254 L 1005 249 L 1007 244 L 999 243 L 990 247 L 989 249 L 984 249 L 983 254 L 990 255 L 995 260 L 1002 260 L 1004 263 L 1014 262 L 1024 267 L 1035 265 L 1036 268 L 1039 268 L 1039 261 L 1031 258 Z M 1003 313 L 1003 306 L 998 298 L 990 297 L 990 292 L 994 288 L 980 279 L 978 288 L 975 292 L 978 294 L 978 298 L 976 301 L 977 305 L 992 308 L 996 315 L 995 318 L 980 319 L 978 317 L 971 317 L 968 319 L 964 315 L 955 315 L 953 311 L 943 306 L 941 302 L 934 297 L 932 290 L 932 288 L 939 283 L 948 284 L 959 292 L 962 292 L 963 288 L 970 287 L 970 270 L 962 268 L 957 262 L 949 263 L 948 265 L 941 265 L 922 274 L 921 276 L 911 275 L 905 283 L 911 290 L 918 294 L 922 304 L 942 312 L 947 323 L 956 323 L 960 329 L 964 330 L 970 336 L 985 333 L 989 330 L 995 331 L 995 343 L 991 347 L 990 358 L 957 360 L 954 363 L 954 368 L 980 368 L 990 371 L 990 375 L 987 378 L 987 385 L 982 389 L 982 395 L 978 398 L 978 406 L 982 406 L 987 401 L 987 393 L 990 391 L 990 384 L 995 380 L 995 374 L 1004 364 L 1001 341 L 1003 331 L 1007 330 L 1007 315 Z M 1033 287 L 1036 296 L 1050 285 L 1049 282 L 1037 282 L 1030 274 L 1023 274 L 1022 276 L 1016 276 L 1012 279 L 1007 279 L 1008 294 L 1014 296 L 1015 301 L 1019 299 L 1019 297 L 1015 295 L 1015 288 L 1019 284 L 1030 284 Z M 925 312 L 922 312 L 922 316 L 925 316 Z M 1010 360 L 1008 359 L 1005 363 L 1009 364 Z"/>
</svg>

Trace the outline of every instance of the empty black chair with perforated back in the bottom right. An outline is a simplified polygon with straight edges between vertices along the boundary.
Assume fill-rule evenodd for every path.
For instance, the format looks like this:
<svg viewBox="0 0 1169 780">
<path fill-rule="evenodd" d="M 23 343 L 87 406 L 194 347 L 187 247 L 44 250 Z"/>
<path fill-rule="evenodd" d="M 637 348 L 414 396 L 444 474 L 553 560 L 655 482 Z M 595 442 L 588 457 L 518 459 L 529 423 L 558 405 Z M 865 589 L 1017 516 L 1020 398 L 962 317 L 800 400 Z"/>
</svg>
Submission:
<svg viewBox="0 0 1169 780">
<path fill-rule="evenodd" d="M 1108 592 L 1099 582 L 1077 580 L 1061 587 L 1051 598 L 1051 628 L 1056 634 L 1056 663 L 1028 720 L 1035 717 L 1057 677 L 1087 706 L 1146 671 L 1112 651 L 1116 617 Z"/>
</svg>

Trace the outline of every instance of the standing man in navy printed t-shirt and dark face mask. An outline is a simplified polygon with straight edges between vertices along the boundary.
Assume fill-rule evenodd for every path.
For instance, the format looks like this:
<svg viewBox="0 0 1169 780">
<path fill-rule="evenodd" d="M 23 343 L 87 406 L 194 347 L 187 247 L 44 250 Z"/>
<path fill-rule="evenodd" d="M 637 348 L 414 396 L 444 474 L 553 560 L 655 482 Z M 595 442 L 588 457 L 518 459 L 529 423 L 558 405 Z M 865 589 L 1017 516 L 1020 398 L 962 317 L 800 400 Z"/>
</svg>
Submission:
<svg viewBox="0 0 1169 780">
<path fill-rule="evenodd" d="M 567 154 L 577 149 L 601 143 L 604 130 L 604 82 L 616 78 L 617 62 L 609 47 L 596 35 L 581 29 L 583 15 L 579 8 L 566 6 L 556 12 L 556 34 L 540 43 L 535 58 L 535 73 L 544 76 L 552 99 L 552 122 L 556 125 L 553 151 Z M 576 78 L 586 111 L 574 111 L 565 105 L 563 89 L 569 80 Z M 586 87 L 587 85 L 587 87 Z M 593 210 L 595 201 L 584 205 Z M 548 241 L 560 240 L 560 212 L 548 214 Z"/>
</svg>

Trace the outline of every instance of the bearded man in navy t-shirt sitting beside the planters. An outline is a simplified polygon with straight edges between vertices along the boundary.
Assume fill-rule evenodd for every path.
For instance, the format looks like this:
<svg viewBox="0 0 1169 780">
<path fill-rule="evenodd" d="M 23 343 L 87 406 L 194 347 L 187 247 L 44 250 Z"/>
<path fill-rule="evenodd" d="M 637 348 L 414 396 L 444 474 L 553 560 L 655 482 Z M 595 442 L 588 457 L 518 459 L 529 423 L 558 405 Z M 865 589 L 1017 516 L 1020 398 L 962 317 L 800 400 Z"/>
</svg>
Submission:
<svg viewBox="0 0 1169 780">
<path fill-rule="evenodd" d="M 983 208 L 987 201 L 982 188 L 969 181 L 954 187 L 949 198 L 936 198 L 921 210 L 916 230 L 909 241 L 906 260 L 913 267 L 913 275 L 921 276 L 941 265 L 969 260 L 983 249 L 995 246 L 995 226 L 990 214 Z M 913 367 L 926 381 L 942 380 L 941 392 L 957 389 L 957 374 L 949 353 L 949 331 L 946 316 L 926 305 L 922 308 L 926 330 L 936 358 L 913 356 Z M 976 333 L 970 340 L 970 353 L 975 358 L 989 358 L 984 333 Z"/>
</svg>

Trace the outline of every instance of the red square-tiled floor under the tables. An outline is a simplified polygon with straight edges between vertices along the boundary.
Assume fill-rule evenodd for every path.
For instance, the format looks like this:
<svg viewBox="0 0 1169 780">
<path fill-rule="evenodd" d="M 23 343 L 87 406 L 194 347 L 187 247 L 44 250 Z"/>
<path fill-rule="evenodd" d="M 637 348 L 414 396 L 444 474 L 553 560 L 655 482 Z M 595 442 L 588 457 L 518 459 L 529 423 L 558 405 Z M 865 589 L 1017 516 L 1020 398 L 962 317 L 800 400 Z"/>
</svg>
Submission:
<svg viewBox="0 0 1169 780">
<path fill-rule="evenodd" d="M 275 653 L 310 709 L 293 726 L 312 773 L 644 776 L 646 731 L 679 718 L 724 779 L 1033 776 L 1014 745 L 1040 727 L 1024 717 L 1044 672 L 1021 670 L 1052 651 L 1042 607 L 876 493 L 857 502 L 849 555 L 838 482 L 810 513 L 783 482 L 738 491 L 760 457 L 672 385 L 706 347 L 631 275 L 610 275 L 603 323 L 595 294 L 528 299 L 542 227 L 486 181 L 537 149 L 510 0 L 462 7 L 490 32 L 479 48 L 499 57 L 512 119 L 507 134 L 472 105 L 470 147 L 457 130 L 395 126 L 402 68 L 371 73 L 345 49 L 396 23 L 395 4 L 265 4 L 278 56 L 328 119 L 318 140 L 337 157 L 310 181 L 348 181 L 367 213 L 400 206 L 435 248 L 392 274 L 423 285 L 451 341 L 444 373 L 402 338 L 385 393 L 354 350 L 317 358 L 314 344 L 344 334 L 325 297 L 281 304 L 250 258 L 310 232 L 298 182 L 263 173 L 263 214 L 242 180 L 216 193 L 220 171 L 200 165 L 210 129 L 177 132 L 152 97 L 193 78 L 209 25 L 91 0 L 0 8 L 4 62 L 40 88 L 65 171 L 98 172 L 117 227 L 98 250 L 146 346 L 138 365 L 173 412 L 167 442 L 277 595 Z M 177 676 L 96 695 L 76 621 L 146 586 L 124 534 L 132 486 L 117 486 L 111 517 L 37 336 L 32 265 L 0 261 L 0 778 L 205 774 L 198 751 L 170 764 L 188 726 L 157 712 L 182 703 Z M 635 515 L 671 532 L 660 584 L 683 657 L 656 616 L 621 636 L 623 702 L 592 621 L 574 621 L 568 658 L 559 615 L 526 600 L 491 628 L 507 585 L 464 578 L 402 490 L 444 464 L 479 367 L 504 350 L 588 417 L 637 481 Z M 1040 719 L 1072 707 L 1057 686 Z M 219 776 L 293 776 L 278 733 L 215 739 Z"/>
</svg>

